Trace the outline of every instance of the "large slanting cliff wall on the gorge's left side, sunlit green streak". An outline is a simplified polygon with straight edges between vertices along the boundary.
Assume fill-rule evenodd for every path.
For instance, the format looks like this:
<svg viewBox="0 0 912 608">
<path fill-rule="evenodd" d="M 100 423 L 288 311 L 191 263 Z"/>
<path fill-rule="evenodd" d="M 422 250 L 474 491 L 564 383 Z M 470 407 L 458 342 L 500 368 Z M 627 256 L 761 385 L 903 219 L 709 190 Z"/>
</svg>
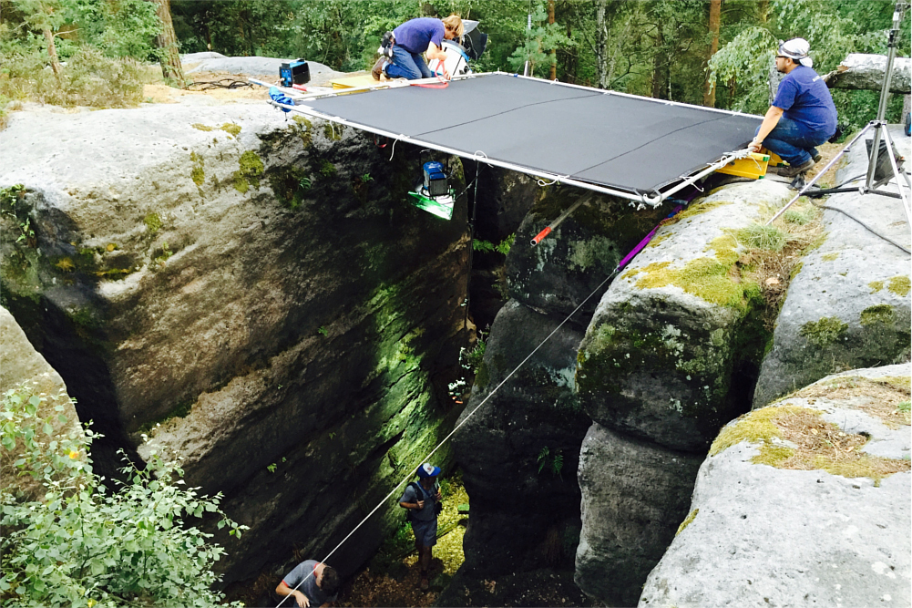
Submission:
<svg viewBox="0 0 912 608">
<path fill-rule="evenodd" d="M 4 305 L 105 435 L 98 469 L 147 434 L 225 494 L 251 527 L 219 537 L 226 581 L 334 547 L 451 427 L 465 202 L 451 222 L 407 203 L 417 150 L 390 162 L 259 102 L 20 112 L 2 138 L 0 187 L 26 187 Z M 381 510 L 334 563 L 400 519 Z"/>
</svg>

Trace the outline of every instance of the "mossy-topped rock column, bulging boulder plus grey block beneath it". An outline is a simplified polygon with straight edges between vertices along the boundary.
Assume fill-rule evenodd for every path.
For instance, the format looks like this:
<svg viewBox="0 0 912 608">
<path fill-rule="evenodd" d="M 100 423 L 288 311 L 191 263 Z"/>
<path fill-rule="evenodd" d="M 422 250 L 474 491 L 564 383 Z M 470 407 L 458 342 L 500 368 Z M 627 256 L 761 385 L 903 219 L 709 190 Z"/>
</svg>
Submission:
<svg viewBox="0 0 912 608">
<path fill-rule="evenodd" d="M 594 421 L 578 472 L 576 582 L 609 604 L 637 602 L 687 514 L 689 488 L 721 425 L 749 407 L 768 336 L 741 230 L 785 185 L 720 188 L 663 226 L 598 304 L 580 345 L 576 392 Z"/>
</svg>

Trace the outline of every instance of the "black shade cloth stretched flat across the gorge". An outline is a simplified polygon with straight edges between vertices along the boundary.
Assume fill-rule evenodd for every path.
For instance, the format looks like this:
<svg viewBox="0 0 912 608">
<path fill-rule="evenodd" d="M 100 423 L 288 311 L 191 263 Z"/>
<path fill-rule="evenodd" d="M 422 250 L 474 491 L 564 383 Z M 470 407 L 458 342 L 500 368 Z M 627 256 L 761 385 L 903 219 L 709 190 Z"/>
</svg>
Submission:
<svg viewBox="0 0 912 608">
<path fill-rule="evenodd" d="M 762 121 L 509 74 L 301 103 L 368 131 L 645 194 L 745 148 Z"/>
</svg>

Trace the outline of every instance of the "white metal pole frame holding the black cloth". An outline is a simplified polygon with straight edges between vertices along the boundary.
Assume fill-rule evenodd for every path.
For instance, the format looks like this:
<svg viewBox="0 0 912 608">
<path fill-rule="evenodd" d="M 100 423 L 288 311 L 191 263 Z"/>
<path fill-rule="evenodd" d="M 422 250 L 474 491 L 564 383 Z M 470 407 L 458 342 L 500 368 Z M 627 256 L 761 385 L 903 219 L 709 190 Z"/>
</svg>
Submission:
<svg viewBox="0 0 912 608">
<path fill-rule="evenodd" d="M 535 79 L 535 78 L 526 77 L 526 76 L 518 76 L 516 74 L 510 74 L 507 72 L 483 72 L 481 74 L 465 74 L 462 76 L 453 77 L 452 80 L 484 78 L 484 77 L 492 76 L 492 75 L 512 76 L 513 78 L 536 80 L 538 82 L 543 81 L 542 79 Z M 313 108 L 306 105 L 306 102 L 309 100 L 320 100 L 320 99 L 326 99 L 329 97 L 337 97 L 339 95 L 350 95 L 352 93 L 370 92 L 370 91 L 375 91 L 375 90 L 380 90 L 380 89 L 398 89 L 400 87 L 409 87 L 412 85 L 429 84 L 429 83 L 436 83 L 436 82 L 439 82 L 439 80 L 438 79 L 420 79 L 420 80 L 398 80 L 397 79 L 397 80 L 390 80 L 389 82 L 378 83 L 376 85 L 368 85 L 365 87 L 353 87 L 353 88 L 348 88 L 348 89 L 337 89 L 337 90 L 333 90 L 333 91 L 321 91 L 321 92 L 303 94 L 303 95 L 300 94 L 300 92 L 295 89 L 285 89 L 285 88 L 279 87 L 279 89 L 282 89 L 283 92 L 285 92 L 285 93 L 295 93 L 295 95 L 294 95 L 295 105 L 290 106 L 290 105 L 278 103 L 274 100 L 270 100 L 269 103 L 271 103 L 275 107 L 281 108 L 283 110 L 299 112 L 299 113 L 305 114 L 307 116 L 311 116 L 311 117 L 314 117 L 317 119 L 322 119 L 324 121 L 337 122 L 338 124 L 344 124 L 344 125 L 354 128 L 354 129 L 358 129 L 361 131 L 368 131 L 371 133 L 375 133 L 377 135 L 381 135 L 383 137 L 389 137 L 390 139 L 393 139 L 393 140 L 412 143 L 415 145 L 420 145 L 421 147 L 424 147 L 424 148 L 430 148 L 432 150 L 436 150 L 438 152 L 444 152 L 446 154 L 452 154 L 454 156 L 461 156 L 463 158 L 471 158 L 472 160 L 474 160 L 476 162 L 484 162 L 485 164 L 503 167 L 504 169 L 510 169 L 512 171 L 517 171 L 519 173 L 526 173 L 526 174 L 532 175 L 533 177 L 538 178 L 539 183 L 541 183 L 541 184 L 544 184 L 544 180 L 547 180 L 550 183 L 565 183 L 567 185 L 572 185 L 572 186 L 575 186 L 578 188 L 585 188 L 586 190 L 591 190 L 592 192 L 597 192 L 599 194 L 609 194 L 612 196 L 618 196 L 621 198 L 625 198 L 625 199 L 631 201 L 631 205 L 634 203 L 637 203 L 638 209 L 645 208 L 645 205 L 647 205 L 647 204 L 652 207 L 658 207 L 659 204 L 662 204 L 662 202 L 666 198 L 670 197 L 672 194 L 676 194 L 680 190 L 688 187 L 689 185 L 697 183 L 700 179 L 702 179 L 706 175 L 709 175 L 710 173 L 716 171 L 717 169 L 721 169 L 722 167 L 724 167 L 729 162 L 731 162 L 735 159 L 747 157 L 748 154 L 750 153 L 750 151 L 747 149 L 729 152 L 727 154 L 722 155 L 718 161 L 710 162 L 710 164 L 708 164 L 706 166 L 706 168 L 704 168 L 703 170 L 701 170 L 698 173 L 695 173 L 692 175 L 680 175 L 678 179 L 682 180 L 682 182 L 664 192 L 655 190 L 654 191 L 655 194 L 641 194 L 636 191 L 631 192 L 629 190 L 609 188 L 606 186 L 597 185 L 596 183 L 589 183 L 589 182 L 584 182 L 581 180 L 576 180 L 576 179 L 570 177 L 569 175 L 558 175 L 556 173 L 543 172 L 538 169 L 532 169 L 531 167 L 524 167 L 523 165 L 515 164 L 513 162 L 498 161 L 495 159 L 488 158 L 487 155 L 485 155 L 484 152 L 481 152 L 481 151 L 476 151 L 474 154 L 467 154 L 465 151 L 455 150 L 453 148 L 449 148 L 447 146 L 442 146 L 442 145 L 439 145 L 436 143 L 425 142 L 418 138 L 410 137 L 409 135 L 406 135 L 404 133 L 393 133 L 390 131 L 384 131 L 382 129 L 377 129 L 376 127 L 371 127 L 371 126 L 361 124 L 358 122 L 348 121 L 347 119 L 343 119 L 339 116 L 333 116 L 331 114 L 326 114 L 326 112 L 314 110 Z M 676 101 L 652 100 L 650 98 L 640 98 L 640 97 L 637 97 L 636 95 L 629 95 L 627 93 L 618 93 L 617 91 L 603 90 L 603 89 L 592 89 L 591 87 L 583 87 L 581 85 L 573 85 L 573 84 L 568 84 L 565 82 L 558 82 L 557 80 L 545 80 L 544 82 L 548 82 L 549 84 L 554 85 L 554 86 L 570 87 L 573 89 L 591 90 L 591 91 L 600 92 L 600 93 L 603 93 L 606 95 L 617 95 L 617 96 L 621 96 L 621 97 L 634 98 L 637 100 L 651 101 L 653 103 L 661 103 L 663 105 L 684 106 L 684 107 L 696 108 L 696 109 L 700 109 L 700 110 L 721 112 L 721 113 L 729 114 L 729 115 L 745 116 L 745 114 L 743 114 L 742 112 L 733 112 L 730 110 L 717 110 L 715 108 L 703 108 L 701 106 L 693 106 L 693 105 L 690 105 L 687 103 L 679 103 Z M 289 96 L 291 96 L 291 95 L 289 95 Z M 300 104 L 300 105 L 298 105 L 298 104 Z"/>
</svg>

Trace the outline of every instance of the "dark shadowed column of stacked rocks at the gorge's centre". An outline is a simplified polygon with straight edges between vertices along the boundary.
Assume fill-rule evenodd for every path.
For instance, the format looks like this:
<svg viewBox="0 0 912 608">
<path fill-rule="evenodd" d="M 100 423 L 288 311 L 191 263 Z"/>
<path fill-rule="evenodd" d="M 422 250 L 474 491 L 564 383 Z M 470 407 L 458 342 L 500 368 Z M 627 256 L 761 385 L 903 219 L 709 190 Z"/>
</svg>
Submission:
<svg viewBox="0 0 912 608">
<path fill-rule="evenodd" d="M 463 571 L 485 576 L 572 568 L 581 525 L 575 471 L 591 424 L 576 399 L 574 374 L 595 299 L 558 325 L 668 213 L 636 212 L 626 201 L 595 196 L 532 247 L 532 237 L 582 193 L 555 188 L 530 194 L 537 200 L 507 257 L 511 299 L 492 325 L 463 419 L 478 411 L 453 437 L 472 497 Z M 440 599 L 464 601 L 458 591 Z"/>
</svg>

